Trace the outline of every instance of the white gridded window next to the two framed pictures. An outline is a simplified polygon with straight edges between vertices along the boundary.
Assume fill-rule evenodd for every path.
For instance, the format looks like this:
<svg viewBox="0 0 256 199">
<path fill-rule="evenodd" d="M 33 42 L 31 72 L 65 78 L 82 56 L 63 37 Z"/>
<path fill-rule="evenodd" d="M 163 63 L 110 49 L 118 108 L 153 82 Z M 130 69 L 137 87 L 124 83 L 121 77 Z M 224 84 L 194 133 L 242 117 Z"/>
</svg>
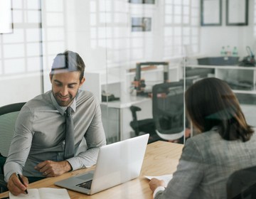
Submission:
<svg viewBox="0 0 256 199">
<path fill-rule="evenodd" d="M 164 58 L 184 55 L 184 47 L 199 51 L 199 1 L 164 1 Z"/>
</svg>

